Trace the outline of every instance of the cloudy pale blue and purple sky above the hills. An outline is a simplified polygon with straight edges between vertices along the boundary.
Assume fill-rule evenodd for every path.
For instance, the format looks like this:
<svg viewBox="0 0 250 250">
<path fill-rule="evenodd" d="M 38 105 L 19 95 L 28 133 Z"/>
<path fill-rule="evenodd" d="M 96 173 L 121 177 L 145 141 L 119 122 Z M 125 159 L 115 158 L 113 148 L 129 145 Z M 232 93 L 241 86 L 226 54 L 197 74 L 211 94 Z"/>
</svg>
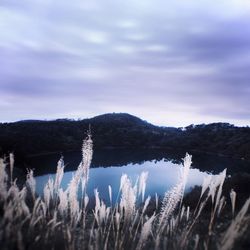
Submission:
<svg viewBox="0 0 250 250">
<path fill-rule="evenodd" d="M 249 107 L 249 0 L 0 0 L 0 122 L 249 126 Z"/>
</svg>

